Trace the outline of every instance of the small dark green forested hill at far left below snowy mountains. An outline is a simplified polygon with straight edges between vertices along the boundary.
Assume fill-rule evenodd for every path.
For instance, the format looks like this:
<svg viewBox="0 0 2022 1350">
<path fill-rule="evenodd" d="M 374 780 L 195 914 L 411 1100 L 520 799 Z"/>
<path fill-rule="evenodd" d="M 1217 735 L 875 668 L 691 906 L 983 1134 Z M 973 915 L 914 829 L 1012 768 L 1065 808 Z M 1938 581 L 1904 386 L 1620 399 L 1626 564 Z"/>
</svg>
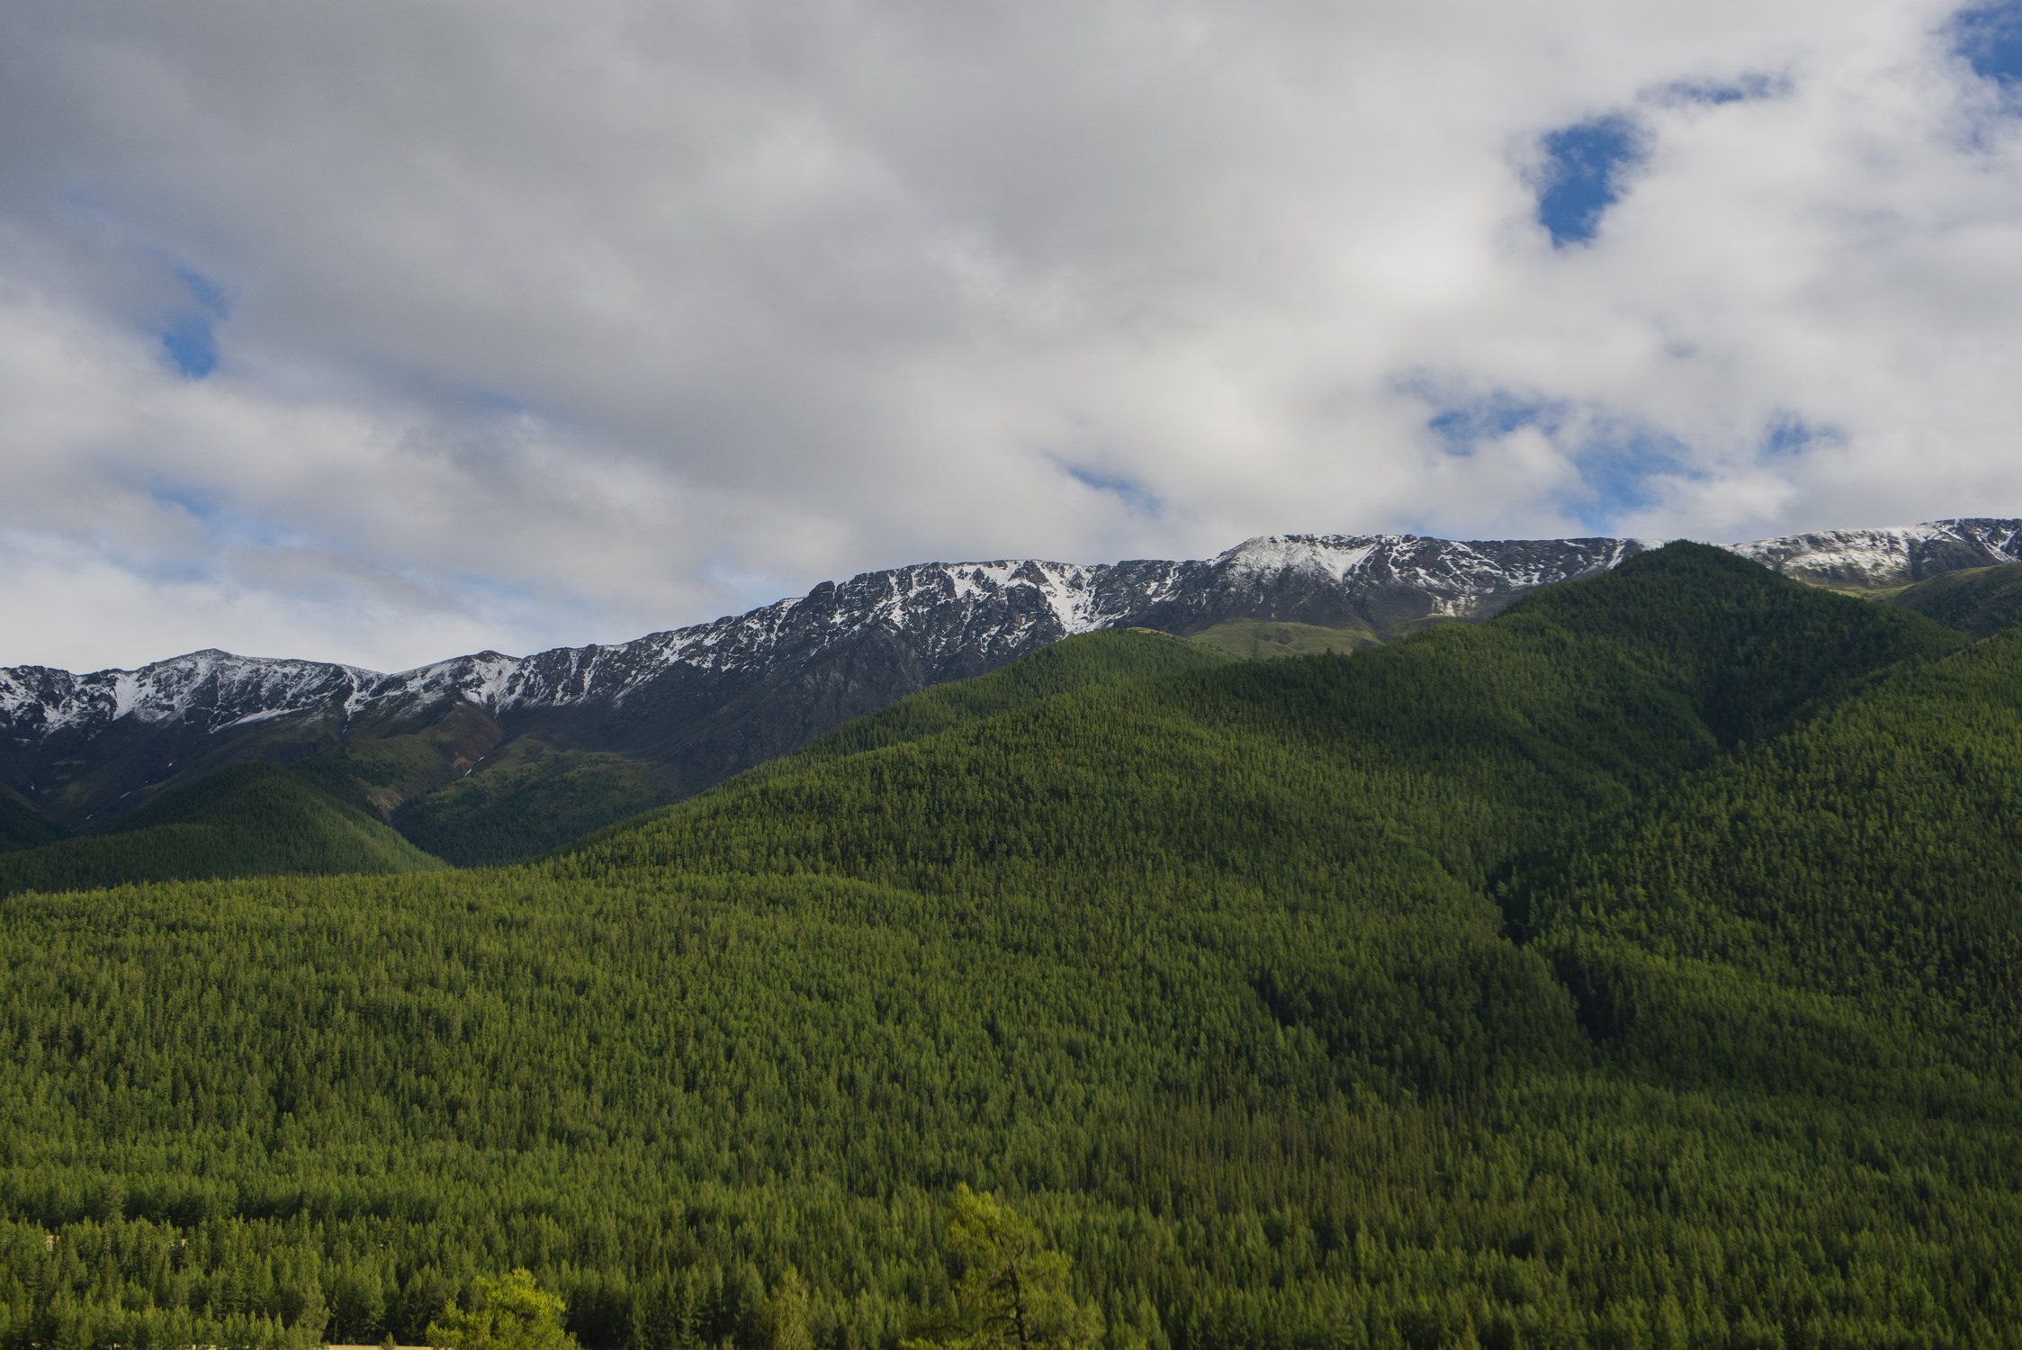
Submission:
<svg viewBox="0 0 2022 1350">
<path fill-rule="evenodd" d="M 196 877 L 427 871 L 429 857 L 372 814 L 271 764 L 220 768 L 117 831 L 0 855 L 0 895 Z"/>
</svg>

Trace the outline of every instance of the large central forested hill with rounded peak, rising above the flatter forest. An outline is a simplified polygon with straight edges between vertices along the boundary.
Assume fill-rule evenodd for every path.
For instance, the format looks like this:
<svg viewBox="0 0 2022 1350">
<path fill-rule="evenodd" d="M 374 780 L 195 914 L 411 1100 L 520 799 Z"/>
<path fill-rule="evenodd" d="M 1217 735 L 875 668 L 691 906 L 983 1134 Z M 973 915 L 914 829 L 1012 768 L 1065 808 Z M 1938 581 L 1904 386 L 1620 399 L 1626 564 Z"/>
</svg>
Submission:
<svg viewBox="0 0 2022 1350">
<path fill-rule="evenodd" d="M 1288 869 L 1300 889 L 1395 897 L 1377 879 L 1389 859 L 1413 873 L 1405 887 L 1430 883 L 1413 871 L 1428 861 L 1474 885 L 1963 641 L 1674 544 L 1486 624 L 1353 657 L 1102 683 L 938 734 L 958 695 L 930 691 L 560 865 L 839 871 L 936 893 L 1092 887 L 1144 867 L 1252 881 Z"/>
</svg>

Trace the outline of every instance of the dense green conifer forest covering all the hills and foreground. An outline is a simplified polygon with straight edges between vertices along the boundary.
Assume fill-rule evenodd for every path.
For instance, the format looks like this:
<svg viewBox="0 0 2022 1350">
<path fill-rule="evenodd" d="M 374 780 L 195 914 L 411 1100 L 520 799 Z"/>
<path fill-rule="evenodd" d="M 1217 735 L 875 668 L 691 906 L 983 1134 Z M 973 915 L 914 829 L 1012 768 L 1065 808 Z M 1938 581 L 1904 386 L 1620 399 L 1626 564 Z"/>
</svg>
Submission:
<svg viewBox="0 0 2022 1350">
<path fill-rule="evenodd" d="M 0 855 L 0 1348 L 1017 1344 L 1009 1247 L 1062 1346 L 2022 1344 L 2008 582 L 1670 546 L 512 867 L 281 770 Z"/>
</svg>

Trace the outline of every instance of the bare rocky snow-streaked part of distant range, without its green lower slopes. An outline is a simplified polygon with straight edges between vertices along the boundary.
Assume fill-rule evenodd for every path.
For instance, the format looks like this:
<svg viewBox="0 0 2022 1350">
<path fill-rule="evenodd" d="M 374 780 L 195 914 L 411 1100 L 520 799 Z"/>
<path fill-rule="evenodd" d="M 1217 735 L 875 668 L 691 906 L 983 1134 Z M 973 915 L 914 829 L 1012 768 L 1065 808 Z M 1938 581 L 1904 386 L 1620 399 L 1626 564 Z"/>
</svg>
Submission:
<svg viewBox="0 0 2022 1350">
<path fill-rule="evenodd" d="M 918 564 L 823 582 L 714 622 L 530 657 L 477 653 L 380 675 L 200 651 L 137 671 L 0 669 L 0 782 L 73 823 L 117 812 L 192 764 L 295 758 L 463 707 L 483 748 L 534 734 L 617 750 L 694 790 L 932 683 L 1074 633 L 1199 633 L 1239 618 L 1389 637 L 1480 618 L 1614 568 L 1650 540 L 1454 542 L 1264 536 L 1205 560 Z M 2022 558 L 2022 519 L 1846 529 L 1735 552 L 1806 580 L 1887 586 Z M 131 804 L 137 804 L 133 800 Z"/>
</svg>

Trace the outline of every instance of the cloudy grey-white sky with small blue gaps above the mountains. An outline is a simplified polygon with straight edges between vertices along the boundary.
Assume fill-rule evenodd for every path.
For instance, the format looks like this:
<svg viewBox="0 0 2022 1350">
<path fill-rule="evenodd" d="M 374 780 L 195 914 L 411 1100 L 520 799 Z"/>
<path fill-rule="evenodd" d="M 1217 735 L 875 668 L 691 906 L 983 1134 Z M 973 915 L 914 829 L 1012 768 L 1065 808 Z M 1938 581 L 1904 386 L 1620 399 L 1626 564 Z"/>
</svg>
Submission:
<svg viewBox="0 0 2022 1350">
<path fill-rule="evenodd" d="M 2022 0 L 0 0 L 0 665 L 2022 515 Z"/>
</svg>

